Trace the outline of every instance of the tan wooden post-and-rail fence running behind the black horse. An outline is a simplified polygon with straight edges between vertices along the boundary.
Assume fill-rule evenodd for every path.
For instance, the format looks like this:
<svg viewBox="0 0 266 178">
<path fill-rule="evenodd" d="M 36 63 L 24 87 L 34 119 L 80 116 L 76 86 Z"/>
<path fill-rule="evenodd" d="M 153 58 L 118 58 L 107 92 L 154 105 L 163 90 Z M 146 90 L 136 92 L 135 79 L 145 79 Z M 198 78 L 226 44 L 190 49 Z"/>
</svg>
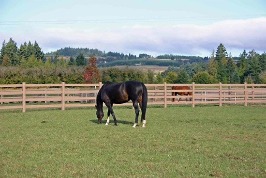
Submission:
<svg viewBox="0 0 266 178">
<path fill-rule="evenodd" d="M 0 110 L 95 106 L 96 96 L 103 83 L 94 84 L 4 84 L 0 85 Z M 266 103 L 266 84 L 145 84 L 148 105 Z M 189 86 L 188 90 L 172 90 L 172 86 Z M 173 92 L 192 92 L 191 96 L 173 96 Z M 176 98 L 173 101 L 173 98 Z M 181 100 L 178 102 L 178 98 Z M 188 101 L 185 100 L 188 98 Z M 191 98 L 191 99 L 189 99 Z M 116 105 L 116 104 L 114 104 Z M 119 105 L 132 105 L 131 102 Z"/>
</svg>

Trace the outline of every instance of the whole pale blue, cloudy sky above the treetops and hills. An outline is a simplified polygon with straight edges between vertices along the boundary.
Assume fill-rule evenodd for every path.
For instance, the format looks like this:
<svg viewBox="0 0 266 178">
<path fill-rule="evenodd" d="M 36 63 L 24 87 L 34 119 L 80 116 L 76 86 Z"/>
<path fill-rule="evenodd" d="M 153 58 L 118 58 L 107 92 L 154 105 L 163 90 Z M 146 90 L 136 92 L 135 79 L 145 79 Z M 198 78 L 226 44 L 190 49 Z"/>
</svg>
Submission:
<svg viewBox="0 0 266 178">
<path fill-rule="evenodd" d="M 0 42 L 124 54 L 266 51 L 266 0 L 0 0 Z"/>
</svg>

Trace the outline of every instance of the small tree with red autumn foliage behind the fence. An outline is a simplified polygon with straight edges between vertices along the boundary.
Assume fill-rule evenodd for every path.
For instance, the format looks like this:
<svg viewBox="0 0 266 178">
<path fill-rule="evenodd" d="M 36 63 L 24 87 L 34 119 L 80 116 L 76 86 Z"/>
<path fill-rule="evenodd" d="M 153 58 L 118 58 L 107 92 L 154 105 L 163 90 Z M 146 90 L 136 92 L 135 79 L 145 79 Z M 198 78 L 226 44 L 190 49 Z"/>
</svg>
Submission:
<svg viewBox="0 0 266 178">
<path fill-rule="evenodd" d="M 101 80 L 100 72 L 96 66 L 97 58 L 92 56 L 89 58 L 89 64 L 86 66 L 86 70 L 84 72 L 84 80 L 85 83 L 98 83 Z"/>
</svg>

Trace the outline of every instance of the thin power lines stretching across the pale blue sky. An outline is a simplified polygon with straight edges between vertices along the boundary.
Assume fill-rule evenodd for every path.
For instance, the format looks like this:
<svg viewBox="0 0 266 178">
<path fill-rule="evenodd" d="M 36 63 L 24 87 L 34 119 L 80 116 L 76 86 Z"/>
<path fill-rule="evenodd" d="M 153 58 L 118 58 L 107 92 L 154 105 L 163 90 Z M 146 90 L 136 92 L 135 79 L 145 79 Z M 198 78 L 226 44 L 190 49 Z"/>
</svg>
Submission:
<svg viewBox="0 0 266 178">
<path fill-rule="evenodd" d="M 92 24 L 92 23 L 141 23 L 141 22 L 171 22 L 171 21 L 195 21 L 195 20 L 221 20 L 243 19 L 266 14 L 250 16 L 221 16 L 221 17 L 183 17 L 183 18 L 130 18 L 130 19 L 94 19 L 94 20 L 35 20 L 35 21 L 0 21 L 0 25 L 47 25 L 47 24 Z"/>
</svg>

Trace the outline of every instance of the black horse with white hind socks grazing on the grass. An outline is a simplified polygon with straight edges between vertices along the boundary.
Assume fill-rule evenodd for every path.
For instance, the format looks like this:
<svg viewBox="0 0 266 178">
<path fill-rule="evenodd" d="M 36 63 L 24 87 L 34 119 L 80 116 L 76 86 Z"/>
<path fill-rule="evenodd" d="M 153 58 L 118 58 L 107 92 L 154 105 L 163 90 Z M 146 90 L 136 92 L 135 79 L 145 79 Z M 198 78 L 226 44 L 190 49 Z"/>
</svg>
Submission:
<svg viewBox="0 0 266 178">
<path fill-rule="evenodd" d="M 129 100 L 132 100 L 133 107 L 135 109 L 136 117 L 134 128 L 138 123 L 138 114 L 139 108 L 138 103 L 141 108 L 141 122 L 143 121 L 143 126 L 145 127 L 146 120 L 146 108 L 148 101 L 148 92 L 144 83 L 139 81 L 125 81 L 122 83 L 113 83 L 111 81 L 107 81 L 103 84 L 103 87 L 100 89 L 97 98 L 96 98 L 96 115 L 98 117 L 98 124 L 102 124 L 103 119 L 103 102 L 108 107 L 107 113 L 107 122 L 105 125 L 109 123 L 110 113 L 112 114 L 115 122 L 115 126 L 117 126 L 117 119 L 115 113 L 113 111 L 113 104 L 121 104 L 126 103 Z"/>
</svg>

